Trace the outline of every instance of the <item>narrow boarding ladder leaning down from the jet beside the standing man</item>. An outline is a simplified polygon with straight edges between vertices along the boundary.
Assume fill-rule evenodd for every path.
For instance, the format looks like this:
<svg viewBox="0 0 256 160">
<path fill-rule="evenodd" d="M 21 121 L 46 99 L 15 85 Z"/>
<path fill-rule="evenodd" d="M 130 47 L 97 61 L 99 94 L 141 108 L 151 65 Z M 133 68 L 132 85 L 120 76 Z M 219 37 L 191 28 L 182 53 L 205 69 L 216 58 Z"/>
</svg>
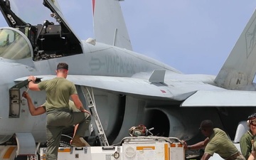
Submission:
<svg viewBox="0 0 256 160">
<path fill-rule="evenodd" d="M 90 90 L 89 90 L 88 87 L 82 86 L 82 93 L 85 96 L 87 107 L 90 109 L 92 117 L 94 117 L 94 119 L 95 119 L 95 124 L 97 126 L 97 133 L 98 133 L 98 137 L 100 139 L 101 146 L 109 146 L 109 143 L 107 142 L 106 134 L 105 134 L 102 124 L 100 122 L 100 118 L 97 114 L 95 97 L 93 94 L 92 87 L 90 87 Z"/>
</svg>

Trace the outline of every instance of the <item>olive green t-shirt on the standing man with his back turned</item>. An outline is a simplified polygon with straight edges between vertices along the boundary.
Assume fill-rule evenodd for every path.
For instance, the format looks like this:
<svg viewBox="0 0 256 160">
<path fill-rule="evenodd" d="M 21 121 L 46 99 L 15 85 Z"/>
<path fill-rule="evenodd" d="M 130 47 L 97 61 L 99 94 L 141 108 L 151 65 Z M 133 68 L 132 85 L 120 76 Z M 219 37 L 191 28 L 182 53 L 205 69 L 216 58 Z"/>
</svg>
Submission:
<svg viewBox="0 0 256 160">
<path fill-rule="evenodd" d="M 39 90 L 46 90 L 46 111 L 69 108 L 70 95 L 78 94 L 73 82 L 53 78 L 38 83 Z"/>
</svg>

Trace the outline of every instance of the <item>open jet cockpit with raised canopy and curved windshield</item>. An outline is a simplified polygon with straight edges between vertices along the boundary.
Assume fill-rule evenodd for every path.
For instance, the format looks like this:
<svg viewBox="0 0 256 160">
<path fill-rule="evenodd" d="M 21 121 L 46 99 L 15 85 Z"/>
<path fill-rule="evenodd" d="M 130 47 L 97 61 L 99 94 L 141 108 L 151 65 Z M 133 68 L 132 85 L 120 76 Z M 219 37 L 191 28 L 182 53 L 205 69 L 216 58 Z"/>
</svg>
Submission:
<svg viewBox="0 0 256 160">
<path fill-rule="evenodd" d="M 18 15 L 21 11 L 12 10 L 13 8 L 15 10 L 15 6 L 25 6 L 24 4 L 26 1 L 14 0 L 10 3 L 9 0 L 0 0 L 1 12 L 9 25 L 9 28 L 0 28 L 0 57 L 16 60 L 32 56 L 36 61 L 82 53 L 80 40 L 62 18 L 58 4 L 44 0 L 42 11 L 31 9 L 38 6 L 26 5 L 28 17 Z M 48 12 L 48 17 L 44 18 L 43 13 L 46 12 Z M 29 23 L 23 21 L 21 17 L 28 19 L 26 21 Z M 31 25 L 31 22 L 38 23 L 40 19 L 43 19 L 41 17 L 53 18 L 55 23 L 44 20 L 39 24 Z M 36 19 L 36 22 L 33 19 Z"/>
</svg>

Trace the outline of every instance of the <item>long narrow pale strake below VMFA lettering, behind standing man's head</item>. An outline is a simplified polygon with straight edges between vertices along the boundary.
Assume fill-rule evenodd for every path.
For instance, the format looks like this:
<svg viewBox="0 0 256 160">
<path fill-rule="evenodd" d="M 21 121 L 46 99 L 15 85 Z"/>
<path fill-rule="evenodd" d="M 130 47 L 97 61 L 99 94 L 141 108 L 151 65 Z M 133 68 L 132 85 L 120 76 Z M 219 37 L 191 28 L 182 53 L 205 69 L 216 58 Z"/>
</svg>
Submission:
<svg viewBox="0 0 256 160">
<path fill-rule="evenodd" d="M 41 80 L 50 80 L 55 78 L 55 75 L 36 75 Z M 15 80 L 23 81 L 26 78 L 18 78 Z M 97 75 L 68 75 L 68 80 L 75 83 L 75 85 L 82 85 L 87 87 L 95 87 L 102 90 L 109 90 L 119 92 L 120 94 L 132 94 L 141 96 L 150 96 L 156 98 L 172 99 L 174 95 L 169 92 L 166 85 L 156 86 L 151 84 L 148 80 L 139 78 L 123 78 Z M 191 93 L 192 94 L 192 93 Z"/>
</svg>

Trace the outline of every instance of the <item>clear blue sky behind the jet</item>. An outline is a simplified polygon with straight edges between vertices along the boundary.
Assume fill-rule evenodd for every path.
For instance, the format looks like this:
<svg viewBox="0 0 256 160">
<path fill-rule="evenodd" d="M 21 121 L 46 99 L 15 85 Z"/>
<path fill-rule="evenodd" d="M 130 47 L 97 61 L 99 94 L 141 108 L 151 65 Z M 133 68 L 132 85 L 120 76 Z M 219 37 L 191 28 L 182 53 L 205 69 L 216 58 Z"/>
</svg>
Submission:
<svg viewBox="0 0 256 160">
<path fill-rule="evenodd" d="M 91 0 L 59 3 L 75 33 L 84 40 L 93 38 Z M 252 0 L 125 0 L 120 4 L 135 52 L 182 73 L 208 75 L 218 74 L 256 7 Z M 0 15 L 0 27 L 4 26 Z"/>
</svg>

